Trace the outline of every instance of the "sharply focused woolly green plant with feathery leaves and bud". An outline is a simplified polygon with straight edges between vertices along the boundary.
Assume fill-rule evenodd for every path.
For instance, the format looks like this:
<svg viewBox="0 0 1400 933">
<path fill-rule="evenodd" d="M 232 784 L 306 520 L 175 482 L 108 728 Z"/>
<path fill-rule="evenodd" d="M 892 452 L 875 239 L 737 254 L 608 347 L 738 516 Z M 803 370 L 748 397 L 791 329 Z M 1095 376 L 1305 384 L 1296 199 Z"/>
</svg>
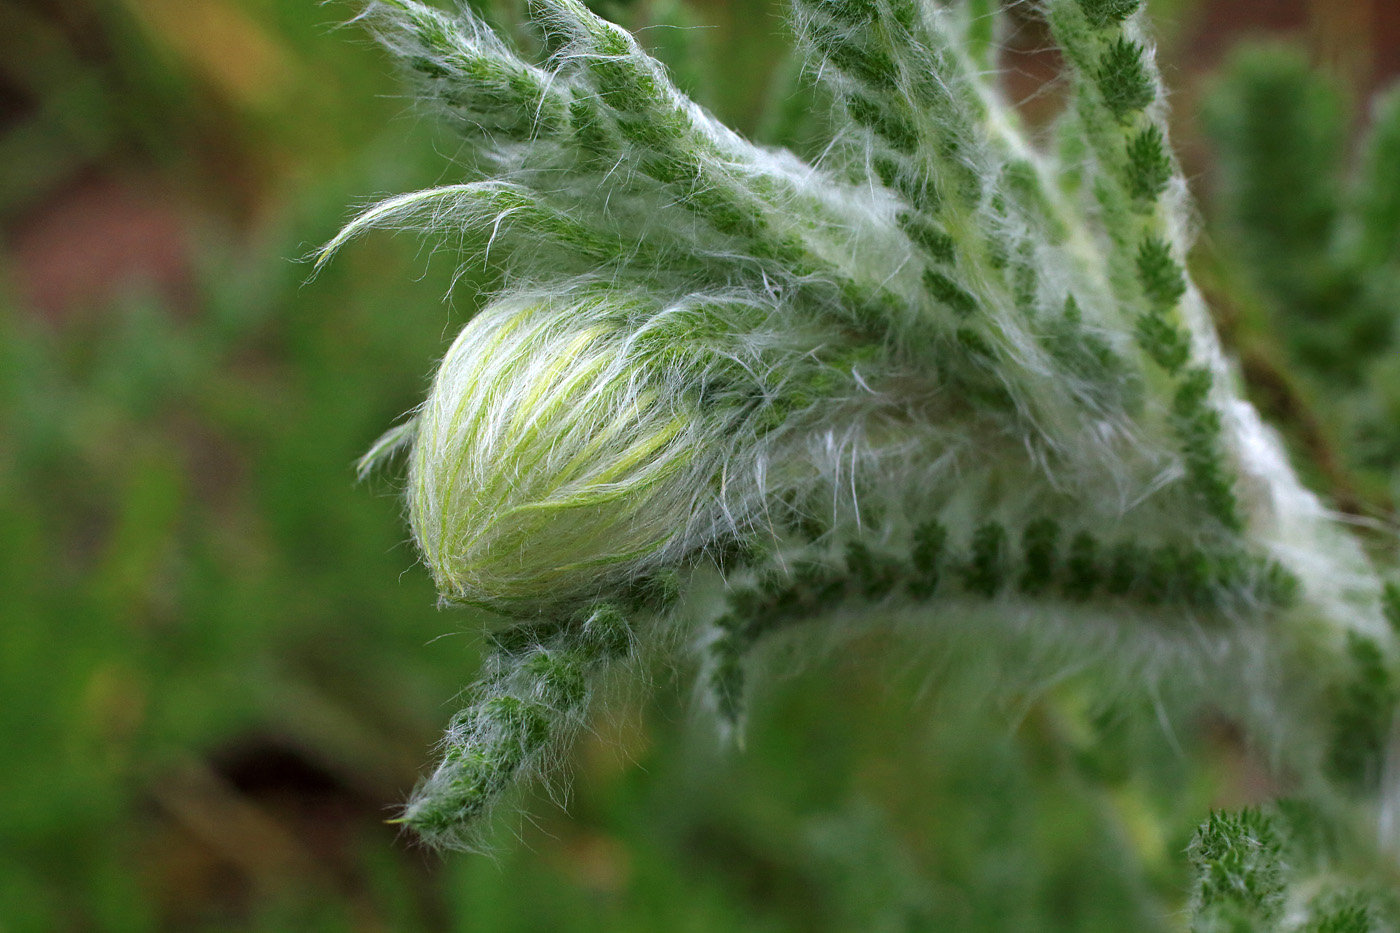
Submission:
<svg viewBox="0 0 1400 933">
<path fill-rule="evenodd" d="M 818 165 L 577 0 L 531 13 L 542 64 L 468 13 L 367 7 L 482 179 L 381 202 L 318 259 L 399 227 L 503 269 L 363 461 L 410 450 L 442 598 L 504 619 L 402 821 L 472 845 L 610 671 L 690 657 L 739 734 L 760 644 L 904 621 L 1004 658 L 1004 691 L 1089 667 L 1226 710 L 1345 855 L 1308 874 L 1273 817 L 1212 817 L 1197 926 L 1372 929 L 1383 898 L 1313 881 L 1364 873 L 1386 818 L 1386 590 L 1186 273 L 1138 3 L 1044 4 L 1070 85 L 1047 151 L 988 77 L 993 4 L 801 0 L 839 127 Z"/>
</svg>

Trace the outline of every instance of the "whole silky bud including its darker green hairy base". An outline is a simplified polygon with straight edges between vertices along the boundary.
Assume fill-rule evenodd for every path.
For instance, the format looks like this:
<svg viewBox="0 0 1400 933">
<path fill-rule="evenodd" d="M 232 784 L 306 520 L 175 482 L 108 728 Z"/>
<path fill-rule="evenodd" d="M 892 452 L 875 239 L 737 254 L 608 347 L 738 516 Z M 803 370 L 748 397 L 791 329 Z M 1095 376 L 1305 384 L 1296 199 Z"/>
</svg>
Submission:
<svg viewBox="0 0 1400 933">
<path fill-rule="evenodd" d="M 409 518 L 444 600 L 577 605 L 741 532 L 764 495 L 811 476 L 781 451 L 853 380 L 784 349 L 770 314 L 582 287 L 473 318 L 410 458 Z"/>
</svg>

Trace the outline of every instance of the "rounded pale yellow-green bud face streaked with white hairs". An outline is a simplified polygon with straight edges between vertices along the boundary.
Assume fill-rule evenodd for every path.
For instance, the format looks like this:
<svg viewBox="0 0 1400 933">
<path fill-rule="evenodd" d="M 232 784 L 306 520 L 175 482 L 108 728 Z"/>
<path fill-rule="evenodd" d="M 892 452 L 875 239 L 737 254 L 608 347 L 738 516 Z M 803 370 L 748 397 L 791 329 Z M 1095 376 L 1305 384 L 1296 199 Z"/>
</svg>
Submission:
<svg viewBox="0 0 1400 933">
<path fill-rule="evenodd" d="M 503 298 L 462 329 L 419 413 L 409 485 L 444 598 L 528 612 L 686 549 L 722 454 L 648 346 L 609 298 Z"/>
</svg>

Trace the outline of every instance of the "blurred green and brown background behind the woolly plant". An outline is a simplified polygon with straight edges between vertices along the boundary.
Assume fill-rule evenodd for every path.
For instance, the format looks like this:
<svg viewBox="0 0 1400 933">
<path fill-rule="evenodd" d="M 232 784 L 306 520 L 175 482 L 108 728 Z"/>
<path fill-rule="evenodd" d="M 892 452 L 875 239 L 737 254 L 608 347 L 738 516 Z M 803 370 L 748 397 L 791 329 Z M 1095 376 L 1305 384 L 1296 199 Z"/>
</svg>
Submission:
<svg viewBox="0 0 1400 933">
<path fill-rule="evenodd" d="M 1240 36 L 1287 35 L 1348 106 L 1400 73 L 1392 0 L 1154 7 L 1204 191 L 1197 102 Z M 819 147 L 781 4 L 598 8 L 731 125 Z M 1229 728 L 1183 756 L 1072 691 L 965 699 L 977 671 L 892 636 L 771 653 L 792 675 L 738 752 L 693 714 L 692 671 L 654 671 L 601 705 L 567 793 L 497 821 L 493 856 L 382 822 L 484 621 L 435 609 L 392 476 L 357 486 L 351 464 L 491 273 L 454 286 L 449 244 L 375 235 L 308 282 L 353 205 L 461 174 L 353 13 L 0 0 L 0 930 L 1179 926 L 1196 822 L 1271 790 Z M 1056 60 L 1015 24 L 1008 87 L 1043 120 Z M 1228 252 L 1208 228 L 1226 338 L 1326 452 L 1299 415 L 1326 377 L 1270 382 L 1287 340 L 1231 300 L 1253 291 Z M 1309 469 L 1343 506 L 1389 507 L 1383 476 Z"/>
</svg>

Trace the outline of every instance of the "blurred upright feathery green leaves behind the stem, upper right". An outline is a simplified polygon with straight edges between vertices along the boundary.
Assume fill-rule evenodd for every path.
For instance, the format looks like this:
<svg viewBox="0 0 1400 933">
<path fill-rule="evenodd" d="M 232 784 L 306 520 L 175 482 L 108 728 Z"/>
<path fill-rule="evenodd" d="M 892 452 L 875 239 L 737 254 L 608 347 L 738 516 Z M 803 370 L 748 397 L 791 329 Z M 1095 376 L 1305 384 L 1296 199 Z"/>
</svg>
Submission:
<svg viewBox="0 0 1400 933">
<path fill-rule="evenodd" d="M 1396 91 L 1345 154 L 1351 130 L 1337 81 L 1287 46 L 1232 56 L 1208 98 L 1218 154 L 1215 207 L 1225 263 L 1239 277 L 1243 325 L 1270 331 L 1274 377 L 1295 431 L 1323 423 L 1347 474 L 1345 499 L 1389 509 L 1394 482 Z M 1385 165 L 1385 167 L 1382 167 Z M 1275 389 L 1277 395 L 1277 389 Z M 1301 429 L 1301 430 L 1299 430 Z M 1317 444 L 1312 444 L 1312 457 Z"/>
</svg>

